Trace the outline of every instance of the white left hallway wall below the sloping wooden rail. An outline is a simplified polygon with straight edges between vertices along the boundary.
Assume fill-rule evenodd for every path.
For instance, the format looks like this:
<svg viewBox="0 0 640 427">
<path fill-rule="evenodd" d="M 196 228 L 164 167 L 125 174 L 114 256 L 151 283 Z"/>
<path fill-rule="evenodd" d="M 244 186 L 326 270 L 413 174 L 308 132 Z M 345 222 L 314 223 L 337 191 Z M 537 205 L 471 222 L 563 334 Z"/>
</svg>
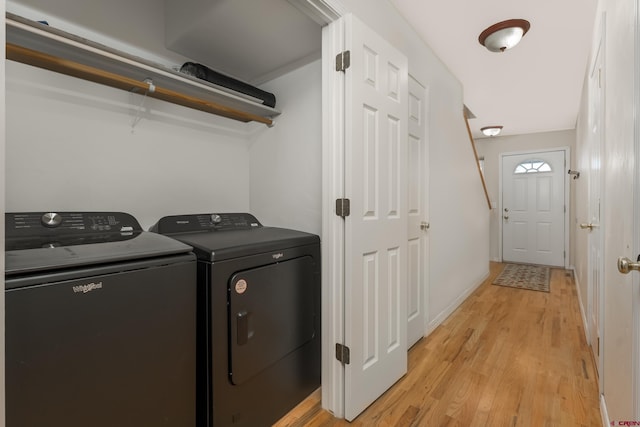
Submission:
<svg viewBox="0 0 640 427">
<path fill-rule="evenodd" d="M 430 91 L 430 328 L 489 274 L 490 211 L 455 83 Z"/>
</svg>

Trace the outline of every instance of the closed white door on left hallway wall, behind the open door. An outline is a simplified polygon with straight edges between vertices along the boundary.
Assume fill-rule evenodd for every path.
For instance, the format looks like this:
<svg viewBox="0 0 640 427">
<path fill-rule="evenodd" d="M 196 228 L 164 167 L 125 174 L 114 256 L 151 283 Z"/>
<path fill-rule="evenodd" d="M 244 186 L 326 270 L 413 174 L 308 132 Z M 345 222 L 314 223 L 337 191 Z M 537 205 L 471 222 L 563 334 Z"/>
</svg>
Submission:
<svg viewBox="0 0 640 427">
<path fill-rule="evenodd" d="M 425 334 L 429 279 L 429 146 L 427 89 L 409 77 L 409 283 L 407 292 L 407 347 Z"/>
</svg>

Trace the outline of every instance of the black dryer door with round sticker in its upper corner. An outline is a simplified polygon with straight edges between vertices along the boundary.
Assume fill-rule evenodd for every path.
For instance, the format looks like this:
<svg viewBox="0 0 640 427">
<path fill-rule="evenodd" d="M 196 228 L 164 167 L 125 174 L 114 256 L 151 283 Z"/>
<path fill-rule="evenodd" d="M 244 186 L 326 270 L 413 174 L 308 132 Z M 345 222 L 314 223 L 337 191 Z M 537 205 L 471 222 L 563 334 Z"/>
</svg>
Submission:
<svg viewBox="0 0 640 427">
<path fill-rule="evenodd" d="M 250 380 L 319 333 L 314 329 L 313 280 L 310 256 L 231 276 L 229 376 L 233 384 Z"/>
</svg>

